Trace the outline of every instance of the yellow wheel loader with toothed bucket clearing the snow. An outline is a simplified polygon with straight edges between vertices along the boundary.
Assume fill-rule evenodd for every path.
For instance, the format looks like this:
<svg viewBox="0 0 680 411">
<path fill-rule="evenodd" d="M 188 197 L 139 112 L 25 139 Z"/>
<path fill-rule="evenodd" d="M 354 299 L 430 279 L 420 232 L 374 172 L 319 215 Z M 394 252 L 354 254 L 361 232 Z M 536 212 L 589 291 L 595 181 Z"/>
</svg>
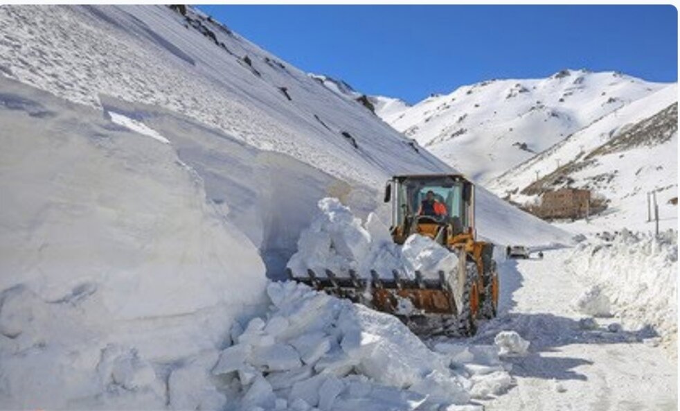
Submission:
<svg viewBox="0 0 680 411">
<path fill-rule="evenodd" d="M 416 333 L 474 335 L 478 320 L 495 317 L 499 298 L 494 245 L 476 241 L 474 184 L 457 174 L 397 175 L 387 182 L 384 200 L 391 203 L 395 243 L 401 245 L 413 234 L 428 236 L 458 256 L 456 269 L 440 271 L 436 278 L 416 271 L 409 279 L 400 268 L 389 279 L 375 270 L 370 270 L 370 278 L 352 270 L 307 270 L 303 275 L 288 271 L 289 277 L 397 315 Z M 422 204 L 432 201 L 439 203 L 438 213 L 423 209 Z"/>
</svg>

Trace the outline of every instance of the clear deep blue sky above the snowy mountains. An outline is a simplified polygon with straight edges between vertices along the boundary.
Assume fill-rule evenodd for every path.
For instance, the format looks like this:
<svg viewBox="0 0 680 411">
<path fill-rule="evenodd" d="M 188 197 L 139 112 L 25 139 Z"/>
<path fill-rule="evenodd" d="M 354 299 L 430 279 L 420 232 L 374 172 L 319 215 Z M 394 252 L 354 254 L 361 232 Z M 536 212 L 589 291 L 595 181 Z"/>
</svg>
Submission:
<svg viewBox="0 0 680 411">
<path fill-rule="evenodd" d="M 415 103 L 564 68 L 677 81 L 673 6 L 200 6 L 305 71 Z"/>
</svg>

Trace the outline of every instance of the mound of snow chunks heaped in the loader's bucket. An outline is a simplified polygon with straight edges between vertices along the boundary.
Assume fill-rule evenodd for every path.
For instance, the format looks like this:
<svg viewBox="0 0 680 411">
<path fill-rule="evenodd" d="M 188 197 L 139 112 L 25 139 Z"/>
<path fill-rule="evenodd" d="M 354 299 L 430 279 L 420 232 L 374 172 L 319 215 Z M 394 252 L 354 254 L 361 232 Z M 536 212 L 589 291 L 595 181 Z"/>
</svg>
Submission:
<svg viewBox="0 0 680 411">
<path fill-rule="evenodd" d="M 335 274 L 355 270 L 368 278 L 375 270 L 380 277 L 392 278 L 392 270 L 398 270 L 413 279 L 416 270 L 437 278 L 440 270 L 456 269 L 456 255 L 429 237 L 413 234 L 399 247 L 375 214 L 362 225 L 337 198 L 323 198 L 318 206 L 320 213 L 301 234 L 298 252 L 287 265 L 296 275 L 305 276 L 310 269 L 319 277 L 325 277 L 325 270 Z"/>
</svg>

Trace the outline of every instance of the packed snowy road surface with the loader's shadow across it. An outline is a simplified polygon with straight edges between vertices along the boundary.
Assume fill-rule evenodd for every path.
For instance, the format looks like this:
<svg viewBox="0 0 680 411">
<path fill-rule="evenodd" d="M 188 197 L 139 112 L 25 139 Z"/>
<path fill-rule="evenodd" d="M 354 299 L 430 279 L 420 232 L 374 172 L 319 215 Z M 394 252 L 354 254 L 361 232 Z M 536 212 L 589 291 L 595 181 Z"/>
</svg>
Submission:
<svg viewBox="0 0 680 411">
<path fill-rule="evenodd" d="M 564 259 L 510 260 L 501 267 L 501 313 L 474 342 L 517 331 L 531 345 L 525 357 L 506 358 L 517 386 L 483 401 L 486 410 L 677 410 L 677 359 L 654 347 L 648 331 L 607 331 L 579 324 L 572 308 L 583 290 Z"/>
</svg>

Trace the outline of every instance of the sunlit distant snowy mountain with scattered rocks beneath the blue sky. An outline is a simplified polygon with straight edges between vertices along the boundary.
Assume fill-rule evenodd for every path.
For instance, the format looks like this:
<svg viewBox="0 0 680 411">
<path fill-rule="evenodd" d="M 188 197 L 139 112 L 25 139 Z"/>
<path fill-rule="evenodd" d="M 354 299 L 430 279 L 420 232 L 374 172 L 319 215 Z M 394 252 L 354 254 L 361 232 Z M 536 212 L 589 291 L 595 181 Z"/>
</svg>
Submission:
<svg viewBox="0 0 680 411">
<path fill-rule="evenodd" d="M 482 184 L 665 84 L 617 72 L 562 70 L 548 78 L 487 80 L 412 107 L 377 97 L 376 113 Z"/>
</svg>

